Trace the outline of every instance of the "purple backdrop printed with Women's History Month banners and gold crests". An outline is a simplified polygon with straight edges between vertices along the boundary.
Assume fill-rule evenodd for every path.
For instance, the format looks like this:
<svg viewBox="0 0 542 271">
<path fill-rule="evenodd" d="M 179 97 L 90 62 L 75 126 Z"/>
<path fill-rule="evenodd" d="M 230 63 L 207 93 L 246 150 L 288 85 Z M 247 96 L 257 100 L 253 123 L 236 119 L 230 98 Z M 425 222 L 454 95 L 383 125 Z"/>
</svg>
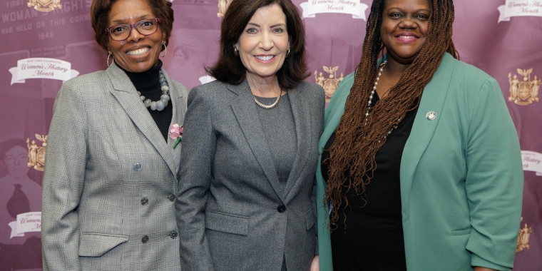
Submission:
<svg viewBox="0 0 542 271">
<path fill-rule="evenodd" d="M 322 84 L 328 96 L 359 62 L 371 4 L 330 1 L 293 0 L 307 29 L 307 81 Z M 218 56 L 227 2 L 173 1 L 173 34 L 162 60 L 188 88 L 212 79 L 204 66 Z M 90 4 L 0 0 L 0 270 L 41 270 L 41 180 L 54 98 L 68 78 L 106 68 L 107 53 L 93 41 Z M 461 60 L 496 78 L 521 142 L 525 189 L 515 270 L 542 270 L 542 1 L 456 0 L 455 7 Z"/>
</svg>

